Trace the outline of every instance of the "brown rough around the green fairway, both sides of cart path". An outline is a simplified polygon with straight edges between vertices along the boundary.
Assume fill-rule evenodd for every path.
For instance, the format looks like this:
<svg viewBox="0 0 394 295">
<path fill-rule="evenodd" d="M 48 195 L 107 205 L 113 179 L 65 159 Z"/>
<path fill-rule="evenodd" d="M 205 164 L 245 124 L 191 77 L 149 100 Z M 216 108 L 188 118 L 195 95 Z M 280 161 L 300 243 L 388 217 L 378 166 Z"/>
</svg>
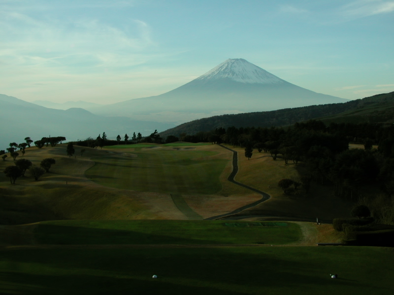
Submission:
<svg viewBox="0 0 394 295">
<path fill-rule="evenodd" d="M 58 219 L 187 219 L 174 205 L 169 194 L 106 187 L 85 176 L 86 170 L 95 164 L 91 158 L 108 154 L 135 157 L 134 149 L 85 148 L 86 152 L 81 156 L 82 148 L 75 146 L 76 154 L 71 158 L 66 155 L 66 145 L 28 148 L 24 158 L 35 165 L 47 157 L 56 160 L 50 173 L 44 174 L 39 181 L 34 181 L 27 172 L 27 177 L 20 177 L 15 185 L 11 185 L 9 178 L 1 173 L 0 224 Z M 189 207 L 199 215 L 207 218 L 228 213 L 261 199 L 261 195 L 227 180 L 232 171 L 232 153 L 229 150 L 217 145 L 194 148 L 216 151 L 216 157 L 228 159 L 220 175 L 221 191 L 215 195 L 183 195 Z M 308 197 L 284 195 L 276 184 L 285 177 L 299 179 L 299 170 L 294 164 L 286 166 L 283 160 L 274 161 L 269 153 L 256 150 L 248 160 L 243 148 L 229 148 L 238 151 L 239 172 L 235 180 L 271 195 L 270 200 L 246 209 L 242 214 L 296 217 L 295 220 L 299 217 L 332 219 L 349 215 L 352 204 L 334 197 L 331 189 L 324 185 L 312 183 Z M 160 152 L 159 149 L 157 151 Z M 13 165 L 10 157 L 0 161 L 0 170 L 8 165 Z"/>
</svg>

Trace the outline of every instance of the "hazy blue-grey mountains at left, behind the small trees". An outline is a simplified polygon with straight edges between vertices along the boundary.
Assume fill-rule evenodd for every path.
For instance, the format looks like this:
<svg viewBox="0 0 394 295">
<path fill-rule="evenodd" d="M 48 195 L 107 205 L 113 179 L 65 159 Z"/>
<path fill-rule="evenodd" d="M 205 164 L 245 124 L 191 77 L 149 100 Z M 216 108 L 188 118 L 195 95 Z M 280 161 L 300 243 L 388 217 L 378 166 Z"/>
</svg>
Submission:
<svg viewBox="0 0 394 295">
<path fill-rule="evenodd" d="M 149 135 L 157 129 L 163 131 L 173 124 L 138 121 L 125 117 L 102 117 L 81 108 L 66 111 L 48 109 L 16 97 L 0 94 L 0 149 L 9 148 L 9 143 L 24 142 L 25 137 L 33 141 L 42 137 L 65 136 L 67 140 L 96 138 L 105 132 L 108 139 L 118 134 L 124 138 L 133 132 Z"/>
</svg>

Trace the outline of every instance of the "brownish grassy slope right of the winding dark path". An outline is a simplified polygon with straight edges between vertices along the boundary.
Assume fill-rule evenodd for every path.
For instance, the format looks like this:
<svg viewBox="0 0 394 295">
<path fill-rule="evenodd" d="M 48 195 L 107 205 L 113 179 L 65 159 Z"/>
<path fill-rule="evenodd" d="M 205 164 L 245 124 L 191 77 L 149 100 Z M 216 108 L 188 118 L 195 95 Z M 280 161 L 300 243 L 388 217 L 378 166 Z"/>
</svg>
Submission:
<svg viewBox="0 0 394 295">
<path fill-rule="evenodd" d="M 282 178 L 299 181 L 299 172 L 294 164 L 286 166 L 282 159 L 274 161 L 269 153 L 259 153 L 257 150 L 254 150 L 252 158 L 248 160 L 244 156 L 243 148 L 228 147 L 238 151 L 238 165 L 240 168 L 235 180 L 260 189 L 272 197 L 261 205 L 247 209 L 243 213 L 319 217 L 321 219 L 349 216 L 353 205 L 333 196 L 332 190 L 324 185 L 312 183 L 308 197 L 284 195 L 277 183 Z M 299 165 L 302 166 L 302 164 Z"/>
</svg>

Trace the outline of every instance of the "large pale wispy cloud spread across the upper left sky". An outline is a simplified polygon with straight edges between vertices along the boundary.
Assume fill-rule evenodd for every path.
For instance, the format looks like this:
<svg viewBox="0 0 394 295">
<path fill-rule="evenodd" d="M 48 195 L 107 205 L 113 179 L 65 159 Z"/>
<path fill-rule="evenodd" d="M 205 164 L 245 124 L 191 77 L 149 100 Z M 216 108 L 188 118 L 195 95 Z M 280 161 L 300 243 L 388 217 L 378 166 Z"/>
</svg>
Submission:
<svg viewBox="0 0 394 295">
<path fill-rule="evenodd" d="M 156 47 L 149 25 L 141 20 L 130 20 L 125 30 L 97 19 L 59 23 L 19 12 L 2 12 L 0 19 L 4 29 L 0 30 L 0 62 L 13 66 L 58 66 L 74 71 L 125 67 L 140 64 L 141 53 Z"/>
</svg>

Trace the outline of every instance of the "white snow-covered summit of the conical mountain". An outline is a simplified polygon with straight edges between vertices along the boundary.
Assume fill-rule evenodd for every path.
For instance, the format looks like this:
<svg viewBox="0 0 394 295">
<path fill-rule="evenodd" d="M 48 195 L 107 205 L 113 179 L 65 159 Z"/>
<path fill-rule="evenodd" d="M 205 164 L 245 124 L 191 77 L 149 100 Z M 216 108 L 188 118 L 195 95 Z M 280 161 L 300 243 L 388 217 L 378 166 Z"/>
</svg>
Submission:
<svg viewBox="0 0 394 295">
<path fill-rule="evenodd" d="M 196 80 L 230 78 L 241 83 L 280 84 L 285 81 L 245 59 L 227 59 Z"/>
</svg>

